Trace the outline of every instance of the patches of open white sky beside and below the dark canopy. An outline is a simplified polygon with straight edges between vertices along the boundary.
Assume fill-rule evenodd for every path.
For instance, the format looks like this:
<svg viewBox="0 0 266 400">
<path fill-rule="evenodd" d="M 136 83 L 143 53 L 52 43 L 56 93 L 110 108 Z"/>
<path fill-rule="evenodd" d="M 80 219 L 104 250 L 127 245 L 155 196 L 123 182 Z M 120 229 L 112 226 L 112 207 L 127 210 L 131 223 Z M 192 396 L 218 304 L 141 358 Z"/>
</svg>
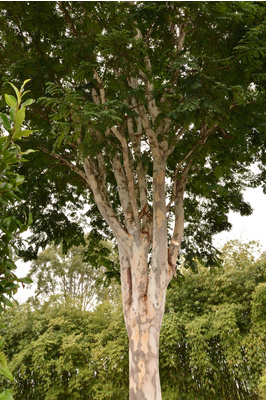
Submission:
<svg viewBox="0 0 266 400">
<path fill-rule="evenodd" d="M 241 217 L 235 212 L 229 213 L 229 222 L 233 225 L 230 232 L 222 232 L 214 237 L 214 245 L 221 248 L 228 240 L 239 239 L 242 242 L 250 240 L 259 241 L 263 251 L 266 251 L 266 196 L 261 188 L 248 189 L 244 193 L 244 199 L 253 208 L 252 215 Z M 30 263 L 17 262 L 17 276 L 22 278 L 27 275 Z M 26 285 L 27 287 L 28 285 Z M 19 302 L 25 301 L 33 290 L 21 288 L 15 295 Z"/>
</svg>

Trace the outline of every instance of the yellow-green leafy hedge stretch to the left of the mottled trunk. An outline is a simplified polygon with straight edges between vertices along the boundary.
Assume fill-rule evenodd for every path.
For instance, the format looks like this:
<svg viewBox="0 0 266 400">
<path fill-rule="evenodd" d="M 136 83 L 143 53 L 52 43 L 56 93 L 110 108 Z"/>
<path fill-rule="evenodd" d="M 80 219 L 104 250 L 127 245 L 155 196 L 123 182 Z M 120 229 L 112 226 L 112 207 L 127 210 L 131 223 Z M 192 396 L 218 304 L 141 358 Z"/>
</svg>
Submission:
<svg viewBox="0 0 266 400">
<path fill-rule="evenodd" d="M 120 358 L 127 354 L 126 332 L 121 311 L 112 310 L 108 301 L 88 312 L 72 300 L 52 297 L 35 310 L 15 306 L 5 324 L 15 399 L 122 398 L 127 365 Z"/>
</svg>

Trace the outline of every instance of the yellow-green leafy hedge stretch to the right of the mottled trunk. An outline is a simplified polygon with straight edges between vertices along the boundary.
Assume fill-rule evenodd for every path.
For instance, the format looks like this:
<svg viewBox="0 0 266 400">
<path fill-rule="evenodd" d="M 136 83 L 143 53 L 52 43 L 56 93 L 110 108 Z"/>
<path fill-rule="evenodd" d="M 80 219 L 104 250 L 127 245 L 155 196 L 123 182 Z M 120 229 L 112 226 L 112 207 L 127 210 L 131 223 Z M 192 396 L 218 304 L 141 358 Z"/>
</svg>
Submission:
<svg viewBox="0 0 266 400">
<path fill-rule="evenodd" d="M 184 271 L 183 284 L 169 290 L 161 333 L 168 399 L 176 391 L 186 400 L 258 399 L 266 363 L 266 259 L 251 261 L 253 246 L 229 242 L 222 269 Z M 175 380 L 175 390 L 165 379 Z"/>
</svg>

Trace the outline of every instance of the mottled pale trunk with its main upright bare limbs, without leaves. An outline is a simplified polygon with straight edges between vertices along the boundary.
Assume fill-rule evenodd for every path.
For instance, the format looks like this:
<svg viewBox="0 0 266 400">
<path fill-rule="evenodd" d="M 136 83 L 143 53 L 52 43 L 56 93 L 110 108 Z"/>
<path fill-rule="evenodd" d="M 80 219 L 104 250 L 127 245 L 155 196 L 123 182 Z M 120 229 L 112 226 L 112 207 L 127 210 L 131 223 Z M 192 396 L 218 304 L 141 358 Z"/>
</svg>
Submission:
<svg viewBox="0 0 266 400">
<path fill-rule="evenodd" d="M 171 254 L 168 252 L 165 174 L 167 143 L 158 144 L 145 110 L 139 109 L 147 129 L 153 161 L 153 205 L 148 204 L 145 175 L 139 173 L 141 201 L 135 193 L 133 157 L 125 138 L 116 128 L 123 165 L 118 155 L 112 167 L 124 212 L 121 225 L 108 202 L 101 181 L 94 175 L 93 162 L 84 159 L 87 182 L 102 217 L 112 229 L 118 244 L 124 319 L 129 337 L 129 400 L 161 400 L 159 377 L 159 336 L 165 308 L 167 286 L 172 279 L 178 245 L 181 240 L 182 204 L 176 214 Z M 141 206 L 141 209 L 139 209 Z M 151 215 L 152 209 L 152 215 Z M 179 243 L 179 242 L 178 242 Z"/>
</svg>

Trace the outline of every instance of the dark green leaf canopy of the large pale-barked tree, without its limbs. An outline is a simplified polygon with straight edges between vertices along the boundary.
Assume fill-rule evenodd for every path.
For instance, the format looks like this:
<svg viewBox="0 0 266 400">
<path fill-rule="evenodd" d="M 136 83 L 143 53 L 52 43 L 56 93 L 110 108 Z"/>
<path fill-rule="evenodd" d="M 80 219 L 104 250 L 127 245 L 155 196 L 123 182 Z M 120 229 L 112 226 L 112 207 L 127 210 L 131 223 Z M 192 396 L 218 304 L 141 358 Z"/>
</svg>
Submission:
<svg viewBox="0 0 266 400">
<path fill-rule="evenodd" d="M 36 257 L 38 249 L 52 241 L 62 242 L 64 251 L 78 245 L 87 217 L 98 232 L 110 235 L 86 182 L 67 166 L 71 161 L 82 170 L 82 152 L 90 155 L 95 167 L 97 154 L 102 154 L 108 199 L 123 219 L 111 165 L 115 152 L 121 153 L 120 144 L 106 129 L 123 127 L 131 117 L 137 125 L 130 99 L 133 96 L 147 110 L 148 80 L 153 85 L 150 95 L 160 108 L 152 127 L 157 129 L 167 117 L 169 129 L 158 138 L 176 145 L 168 160 L 169 179 L 175 179 L 176 165 L 198 143 L 203 127 L 217 125 L 193 156 L 182 244 L 190 265 L 195 257 L 213 264 L 212 235 L 230 229 L 230 209 L 248 215 L 251 208 L 243 199 L 243 188 L 265 182 L 265 4 L 2 2 L 0 7 L 2 79 L 32 77 L 36 98 L 44 97 L 48 88 L 45 104 L 35 103 L 29 112 L 33 126 L 40 129 L 30 141 L 46 152 L 33 155 L 28 185 L 23 187 L 27 201 L 20 212 L 31 211 L 35 221 L 24 256 Z M 180 24 L 186 25 L 187 35 L 178 53 L 174 29 Z M 144 42 L 136 38 L 136 26 Z M 93 91 L 99 93 L 101 86 L 95 70 L 104 80 L 104 104 L 93 101 Z M 135 76 L 141 83 L 132 89 L 128 82 Z M 142 140 L 141 162 L 151 205 L 152 157 L 144 134 Z M 57 158 L 51 156 L 53 152 Z M 139 161 L 135 157 L 135 165 Z M 248 168 L 255 161 L 261 169 L 257 176 Z M 172 189 L 171 183 L 169 197 Z M 81 216 L 84 205 L 87 211 Z"/>
</svg>

